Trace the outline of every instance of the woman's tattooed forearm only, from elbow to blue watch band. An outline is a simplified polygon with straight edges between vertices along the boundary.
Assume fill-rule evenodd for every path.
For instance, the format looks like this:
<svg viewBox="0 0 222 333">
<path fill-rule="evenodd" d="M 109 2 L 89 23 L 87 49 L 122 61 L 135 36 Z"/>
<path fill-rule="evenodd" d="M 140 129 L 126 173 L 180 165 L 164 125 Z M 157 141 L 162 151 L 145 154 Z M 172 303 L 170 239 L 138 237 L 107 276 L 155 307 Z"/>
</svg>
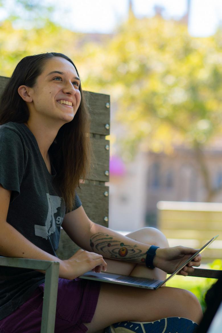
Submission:
<svg viewBox="0 0 222 333">
<path fill-rule="evenodd" d="M 150 245 L 95 223 L 92 224 L 90 232 L 91 251 L 102 254 L 105 258 L 145 263 L 146 251 Z"/>
</svg>

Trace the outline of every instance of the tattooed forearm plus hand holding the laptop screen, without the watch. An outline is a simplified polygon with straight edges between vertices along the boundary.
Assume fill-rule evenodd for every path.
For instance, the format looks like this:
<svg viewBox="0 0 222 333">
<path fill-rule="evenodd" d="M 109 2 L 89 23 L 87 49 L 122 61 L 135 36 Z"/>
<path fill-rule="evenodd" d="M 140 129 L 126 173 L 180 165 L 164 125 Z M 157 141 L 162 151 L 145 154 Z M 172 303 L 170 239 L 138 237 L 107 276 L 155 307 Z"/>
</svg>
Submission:
<svg viewBox="0 0 222 333">
<path fill-rule="evenodd" d="M 137 242 L 98 224 L 92 224 L 90 230 L 91 251 L 103 255 L 105 258 L 145 264 L 146 251 L 152 244 Z M 195 249 L 183 246 L 158 248 L 153 264 L 167 273 L 173 273 L 195 252 Z M 198 267 L 200 259 L 201 256 L 193 259 L 184 270 L 180 271 L 180 274 L 186 276 L 189 272 L 192 272 L 193 267 L 191 266 Z"/>
</svg>

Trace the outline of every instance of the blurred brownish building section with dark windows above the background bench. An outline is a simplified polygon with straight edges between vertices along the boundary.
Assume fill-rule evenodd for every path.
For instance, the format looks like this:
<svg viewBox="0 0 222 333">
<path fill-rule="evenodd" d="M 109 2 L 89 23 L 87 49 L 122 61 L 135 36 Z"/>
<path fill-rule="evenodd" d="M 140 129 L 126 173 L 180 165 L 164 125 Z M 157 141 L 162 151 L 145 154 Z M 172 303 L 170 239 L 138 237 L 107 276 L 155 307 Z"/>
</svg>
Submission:
<svg viewBox="0 0 222 333">
<path fill-rule="evenodd" d="M 222 150 L 211 147 L 204 152 L 209 178 L 218 193 L 214 202 L 222 202 Z M 166 201 L 208 201 L 201 166 L 195 152 L 185 147 L 176 147 L 174 153 L 148 153 L 148 175 L 146 196 L 147 224 L 156 223 L 156 203 Z"/>
</svg>

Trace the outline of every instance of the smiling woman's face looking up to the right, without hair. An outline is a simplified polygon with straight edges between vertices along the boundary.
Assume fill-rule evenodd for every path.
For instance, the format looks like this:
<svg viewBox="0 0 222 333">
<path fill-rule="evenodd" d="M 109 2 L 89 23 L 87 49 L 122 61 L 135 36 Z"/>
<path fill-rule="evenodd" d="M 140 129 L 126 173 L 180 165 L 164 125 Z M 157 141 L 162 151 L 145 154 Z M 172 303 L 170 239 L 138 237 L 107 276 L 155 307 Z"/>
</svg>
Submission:
<svg viewBox="0 0 222 333">
<path fill-rule="evenodd" d="M 32 101 L 27 103 L 30 117 L 58 121 L 61 125 L 72 121 L 81 101 L 79 85 L 76 69 L 68 60 L 61 57 L 47 60 L 30 88 Z"/>
</svg>

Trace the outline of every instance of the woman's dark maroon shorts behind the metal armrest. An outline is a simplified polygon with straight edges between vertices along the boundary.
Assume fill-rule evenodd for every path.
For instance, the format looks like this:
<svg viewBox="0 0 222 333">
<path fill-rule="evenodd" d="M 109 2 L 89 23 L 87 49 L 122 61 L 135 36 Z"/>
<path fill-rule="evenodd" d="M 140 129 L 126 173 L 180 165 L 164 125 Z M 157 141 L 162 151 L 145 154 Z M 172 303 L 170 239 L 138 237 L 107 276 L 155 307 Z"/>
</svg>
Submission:
<svg viewBox="0 0 222 333">
<path fill-rule="evenodd" d="M 15 312 L 0 320 L 1 333 L 40 333 L 44 283 Z M 85 333 L 100 293 L 100 283 L 59 278 L 55 333 Z"/>
</svg>

